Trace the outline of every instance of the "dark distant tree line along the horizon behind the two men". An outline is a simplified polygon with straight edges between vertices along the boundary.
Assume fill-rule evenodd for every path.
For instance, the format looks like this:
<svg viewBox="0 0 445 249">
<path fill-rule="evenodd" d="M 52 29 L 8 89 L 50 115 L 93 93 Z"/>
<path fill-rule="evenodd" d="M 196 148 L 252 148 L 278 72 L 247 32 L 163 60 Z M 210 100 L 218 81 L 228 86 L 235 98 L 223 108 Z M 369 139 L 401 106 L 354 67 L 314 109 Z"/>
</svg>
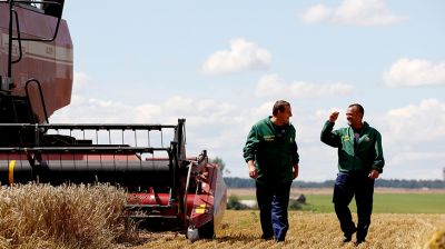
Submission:
<svg viewBox="0 0 445 249">
<path fill-rule="evenodd" d="M 255 180 L 248 178 L 226 177 L 224 178 L 228 188 L 255 188 Z M 298 188 L 332 188 L 335 180 L 316 181 L 294 181 L 293 187 Z M 375 187 L 383 188 L 404 188 L 404 189 L 445 189 L 443 180 L 399 180 L 399 179 L 377 179 Z"/>
</svg>

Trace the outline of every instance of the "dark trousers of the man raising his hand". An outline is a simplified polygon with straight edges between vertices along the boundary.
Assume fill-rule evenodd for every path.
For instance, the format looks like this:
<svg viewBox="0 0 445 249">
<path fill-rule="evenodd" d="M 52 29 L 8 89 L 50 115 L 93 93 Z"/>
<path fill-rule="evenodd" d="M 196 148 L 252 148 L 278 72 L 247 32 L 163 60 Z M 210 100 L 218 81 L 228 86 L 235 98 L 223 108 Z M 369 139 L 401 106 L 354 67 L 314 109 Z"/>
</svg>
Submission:
<svg viewBox="0 0 445 249">
<path fill-rule="evenodd" d="M 333 202 L 335 213 L 340 222 L 342 231 L 345 236 L 350 236 L 357 229 L 357 240 L 365 240 L 370 225 L 373 212 L 374 179 L 368 177 L 368 172 L 352 172 L 337 175 L 334 187 Z M 357 206 L 357 228 L 353 221 L 349 203 L 355 197 Z"/>
</svg>

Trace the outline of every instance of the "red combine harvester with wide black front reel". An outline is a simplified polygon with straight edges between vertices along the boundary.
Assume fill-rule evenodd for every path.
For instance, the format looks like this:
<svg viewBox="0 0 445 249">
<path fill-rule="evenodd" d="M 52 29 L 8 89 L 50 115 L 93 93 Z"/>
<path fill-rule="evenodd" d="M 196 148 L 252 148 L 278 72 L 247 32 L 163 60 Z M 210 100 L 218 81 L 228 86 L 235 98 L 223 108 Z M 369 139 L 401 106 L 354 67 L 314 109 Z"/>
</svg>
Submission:
<svg viewBox="0 0 445 249">
<path fill-rule="evenodd" d="M 0 0 L 0 182 L 109 182 L 152 229 L 214 238 L 226 185 L 204 150 L 186 157 L 185 119 L 175 124 L 49 123 L 68 106 L 72 42 L 63 0 Z M 166 142 L 167 141 L 167 142 Z"/>
</svg>

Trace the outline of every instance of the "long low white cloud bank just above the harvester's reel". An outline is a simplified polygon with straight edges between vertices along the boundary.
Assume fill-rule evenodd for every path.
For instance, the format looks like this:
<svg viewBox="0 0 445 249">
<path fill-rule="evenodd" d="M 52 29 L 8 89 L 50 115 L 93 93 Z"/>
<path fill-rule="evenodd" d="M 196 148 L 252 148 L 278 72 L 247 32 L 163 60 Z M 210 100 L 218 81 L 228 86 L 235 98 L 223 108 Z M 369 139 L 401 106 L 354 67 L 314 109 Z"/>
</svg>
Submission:
<svg viewBox="0 0 445 249">
<path fill-rule="evenodd" d="M 51 121 L 174 123 L 178 118 L 187 117 L 194 120 L 191 126 L 205 126 L 233 122 L 236 112 L 238 108 L 234 104 L 212 99 L 174 96 L 159 103 L 129 106 L 113 100 L 86 99 L 75 94 L 71 104 L 58 110 L 51 117 Z"/>
</svg>

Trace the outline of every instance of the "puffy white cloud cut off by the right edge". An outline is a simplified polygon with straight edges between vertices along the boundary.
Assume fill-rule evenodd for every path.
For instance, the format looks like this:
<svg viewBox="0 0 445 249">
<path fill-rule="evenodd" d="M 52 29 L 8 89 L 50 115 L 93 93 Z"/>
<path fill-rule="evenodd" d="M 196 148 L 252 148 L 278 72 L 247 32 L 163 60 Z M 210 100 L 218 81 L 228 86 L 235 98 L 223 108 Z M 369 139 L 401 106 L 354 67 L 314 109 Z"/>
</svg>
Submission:
<svg viewBox="0 0 445 249">
<path fill-rule="evenodd" d="M 445 86 L 445 62 L 403 58 L 384 73 L 389 87 Z"/>
</svg>

